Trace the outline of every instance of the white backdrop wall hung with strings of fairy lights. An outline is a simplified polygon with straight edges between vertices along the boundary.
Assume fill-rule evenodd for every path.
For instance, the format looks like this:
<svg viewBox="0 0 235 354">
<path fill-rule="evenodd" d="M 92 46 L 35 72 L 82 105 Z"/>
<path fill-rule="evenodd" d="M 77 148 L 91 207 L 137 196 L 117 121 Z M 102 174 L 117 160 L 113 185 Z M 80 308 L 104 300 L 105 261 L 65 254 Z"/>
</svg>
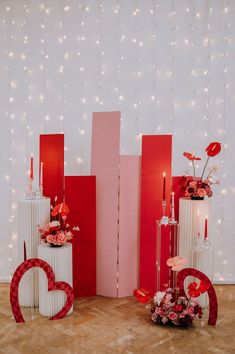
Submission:
<svg viewBox="0 0 235 354">
<path fill-rule="evenodd" d="M 141 134 L 183 151 L 220 141 L 211 199 L 215 280 L 235 280 L 235 1 L 0 2 L 0 278 L 17 257 L 16 202 L 39 134 L 65 133 L 66 174 L 89 174 L 93 111 L 121 110 L 121 153 Z M 201 172 L 202 164 L 198 166 Z"/>
</svg>

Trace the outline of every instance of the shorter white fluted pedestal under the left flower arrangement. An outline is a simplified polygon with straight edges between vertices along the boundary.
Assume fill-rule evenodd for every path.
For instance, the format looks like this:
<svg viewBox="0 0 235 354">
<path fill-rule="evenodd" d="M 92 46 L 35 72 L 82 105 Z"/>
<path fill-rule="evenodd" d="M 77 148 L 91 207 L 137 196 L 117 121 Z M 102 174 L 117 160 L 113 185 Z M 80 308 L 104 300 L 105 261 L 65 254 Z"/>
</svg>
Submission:
<svg viewBox="0 0 235 354">
<path fill-rule="evenodd" d="M 38 258 L 46 261 L 54 271 L 55 281 L 65 281 L 73 286 L 72 245 L 66 243 L 61 247 L 50 247 L 44 243 L 38 246 Z M 66 294 L 55 290 L 48 292 L 48 280 L 45 272 L 39 269 L 39 313 L 52 317 L 64 306 Z M 73 311 L 73 307 L 68 314 Z"/>
</svg>

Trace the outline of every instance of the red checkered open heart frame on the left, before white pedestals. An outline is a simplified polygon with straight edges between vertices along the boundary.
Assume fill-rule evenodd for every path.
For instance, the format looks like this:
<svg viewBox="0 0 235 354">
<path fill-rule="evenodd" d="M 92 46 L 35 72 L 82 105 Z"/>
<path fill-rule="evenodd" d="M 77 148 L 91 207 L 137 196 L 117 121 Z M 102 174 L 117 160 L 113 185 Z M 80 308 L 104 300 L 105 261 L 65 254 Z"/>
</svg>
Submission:
<svg viewBox="0 0 235 354">
<path fill-rule="evenodd" d="M 22 312 L 19 305 L 19 299 L 18 299 L 19 284 L 24 273 L 27 272 L 27 270 L 34 267 L 39 267 L 43 269 L 44 272 L 46 273 L 48 279 L 48 291 L 62 290 L 66 293 L 67 300 L 64 307 L 57 314 L 51 317 L 50 320 L 58 320 L 60 318 L 63 318 L 64 316 L 66 316 L 66 314 L 68 313 L 68 311 L 71 309 L 73 305 L 73 300 L 74 300 L 73 288 L 64 281 L 56 282 L 54 272 L 47 262 L 39 258 L 31 258 L 31 259 L 27 259 L 26 261 L 24 261 L 19 265 L 11 281 L 10 303 L 11 303 L 11 309 L 16 322 L 17 323 L 25 322 L 22 316 Z"/>
</svg>

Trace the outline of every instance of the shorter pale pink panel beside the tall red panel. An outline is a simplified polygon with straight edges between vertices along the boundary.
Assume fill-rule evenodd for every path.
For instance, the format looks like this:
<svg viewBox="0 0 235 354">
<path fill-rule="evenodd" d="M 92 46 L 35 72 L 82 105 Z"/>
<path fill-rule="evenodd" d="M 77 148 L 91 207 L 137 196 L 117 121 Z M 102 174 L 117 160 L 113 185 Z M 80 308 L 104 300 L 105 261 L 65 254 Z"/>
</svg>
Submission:
<svg viewBox="0 0 235 354">
<path fill-rule="evenodd" d="M 120 156 L 118 296 L 139 286 L 140 156 Z"/>
</svg>

